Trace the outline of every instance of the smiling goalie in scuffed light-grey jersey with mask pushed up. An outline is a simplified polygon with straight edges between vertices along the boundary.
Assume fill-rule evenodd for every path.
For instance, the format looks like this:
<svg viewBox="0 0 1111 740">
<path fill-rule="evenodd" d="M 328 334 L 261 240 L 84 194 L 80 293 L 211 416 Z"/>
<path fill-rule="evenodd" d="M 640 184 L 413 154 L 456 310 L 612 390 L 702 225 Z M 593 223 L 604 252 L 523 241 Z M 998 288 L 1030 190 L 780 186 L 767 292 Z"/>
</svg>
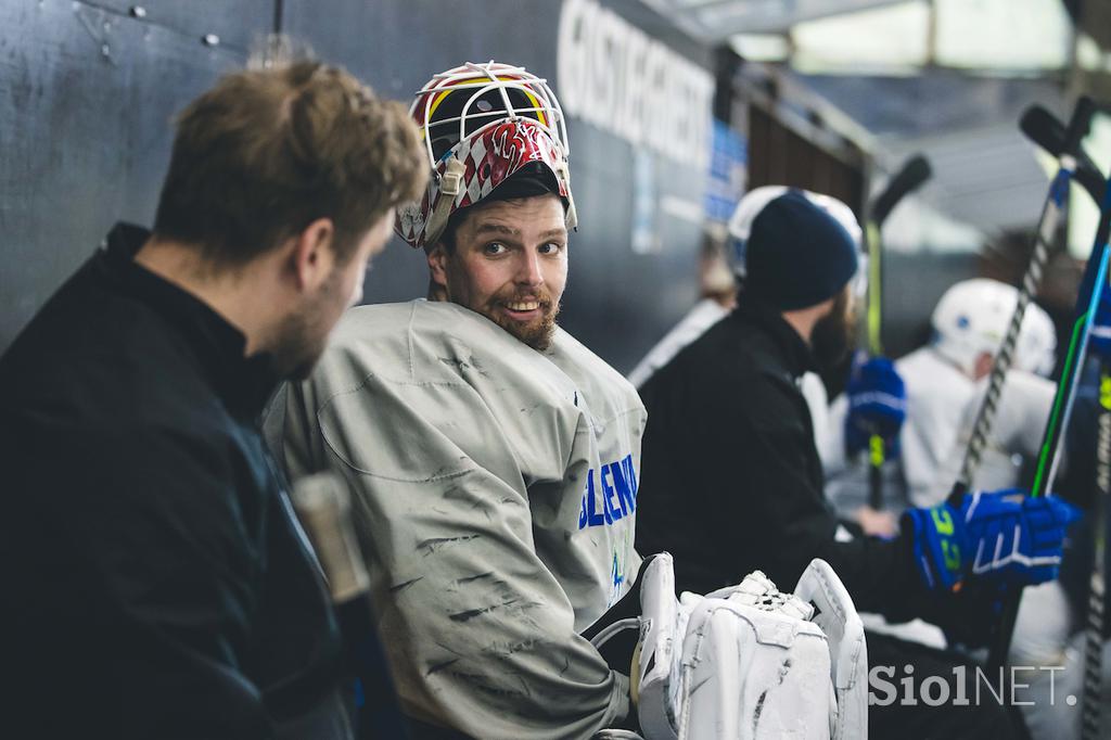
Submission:
<svg viewBox="0 0 1111 740">
<path fill-rule="evenodd" d="M 293 474 L 353 490 L 379 629 L 417 737 L 585 738 L 629 713 L 581 633 L 629 592 L 633 387 L 554 324 L 577 223 L 562 113 L 521 68 L 417 96 L 432 182 L 399 211 L 430 300 L 350 311 L 291 388 Z"/>
</svg>

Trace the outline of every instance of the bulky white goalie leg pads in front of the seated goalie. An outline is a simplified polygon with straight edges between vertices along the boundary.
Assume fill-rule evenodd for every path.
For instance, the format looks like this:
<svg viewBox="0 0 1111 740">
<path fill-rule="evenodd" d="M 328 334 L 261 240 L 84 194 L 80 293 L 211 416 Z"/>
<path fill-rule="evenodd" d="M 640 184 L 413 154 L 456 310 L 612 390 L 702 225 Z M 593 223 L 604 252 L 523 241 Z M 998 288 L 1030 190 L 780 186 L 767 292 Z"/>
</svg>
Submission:
<svg viewBox="0 0 1111 740">
<path fill-rule="evenodd" d="M 813 560 L 794 593 L 759 571 L 675 598 L 669 553 L 641 578 L 638 718 L 648 740 L 868 737 L 868 656 L 852 599 Z"/>
</svg>

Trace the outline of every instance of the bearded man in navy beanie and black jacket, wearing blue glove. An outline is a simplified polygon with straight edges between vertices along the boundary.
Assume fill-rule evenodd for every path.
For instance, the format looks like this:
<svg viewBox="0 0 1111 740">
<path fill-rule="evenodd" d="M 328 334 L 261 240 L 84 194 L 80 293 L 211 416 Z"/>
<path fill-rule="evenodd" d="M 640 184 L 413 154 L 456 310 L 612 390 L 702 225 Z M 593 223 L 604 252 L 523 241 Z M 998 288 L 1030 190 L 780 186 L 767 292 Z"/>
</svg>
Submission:
<svg viewBox="0 0 1111 740">
<path fill-rule="evenodd" d="M 677 589 L 700 593 L 757 569 L 790 589 L 821 558 L 861 611 L 893 621 L 922 617 L 963 639 L 983 639 L 1004 588 L 1055 577 L 1071 509 L 978 493 L 960 507 L 910 510 L 893 539 L 839 537 L 798 380 L 839 362 L 850 344 L 859 260 L 837 218 L 850 211 L 787 189 L 757 207 L 742 200 L 738 210 L 745 208 L 753 212 L 737 308 L 640 389 L 649 422 L 637 548 L 671 552 Z M 1031 551 L 1030 542 L 1047 549 Z M 978 549 L 1010 554 L 977 560 L 973 572 L 960 553 Z M 868 652 L 880 679 L 870 687 L 872 737 L 1010 737 L 1009 711 L 990 697 L 953 702 L 957 669 L 965 667 L 940 651 L 869 634 Z M 948 703 L 924 702 L 920 692 L 912 704 L 903 701 L 899 682 L 907 676 L 914 687 L 938 677 Z M 974 677 L 969 670 L 969 686 Z"/>
</svg>

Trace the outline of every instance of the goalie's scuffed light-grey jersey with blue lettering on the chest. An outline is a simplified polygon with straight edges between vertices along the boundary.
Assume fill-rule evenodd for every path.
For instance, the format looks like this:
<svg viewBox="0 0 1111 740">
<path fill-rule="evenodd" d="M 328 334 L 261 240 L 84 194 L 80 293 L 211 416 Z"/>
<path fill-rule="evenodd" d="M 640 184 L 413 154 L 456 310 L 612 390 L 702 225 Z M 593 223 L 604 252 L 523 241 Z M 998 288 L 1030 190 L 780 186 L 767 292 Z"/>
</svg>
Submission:
<svg viewBox="0 0 1111 740">
<path fill-rule="evenodd" d="M 296 478 L 352 489 L 407 713 L 482 738 L 584 738 L 627 679 L 579 632 L 637 577 L 635 390 L 557 329 L 536 351 L 453 303 L 349 311 L 291 387 Z"/>
</svg>

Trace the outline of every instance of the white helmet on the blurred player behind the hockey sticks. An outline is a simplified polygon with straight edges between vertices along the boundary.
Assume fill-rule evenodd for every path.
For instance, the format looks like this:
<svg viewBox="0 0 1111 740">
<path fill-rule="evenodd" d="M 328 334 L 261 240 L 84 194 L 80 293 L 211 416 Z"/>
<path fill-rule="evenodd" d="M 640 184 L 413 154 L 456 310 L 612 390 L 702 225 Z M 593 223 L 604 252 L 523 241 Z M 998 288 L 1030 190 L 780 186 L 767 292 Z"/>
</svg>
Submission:
<svg viewBox="0 0 1111 740">
<path fill-rule="evenodd" d="M 1018 289 L 998 280 L 973 278 L 952 286 L 930 319 L 934 349 L 971 377 L 978 357 L 999 351 L 1018 301 Z M 1049 374 L 1055 348 L 1053 322 L 1040 307 L 1028 304 L 1015 344 L 1014 367 Z"/>
</svg>

